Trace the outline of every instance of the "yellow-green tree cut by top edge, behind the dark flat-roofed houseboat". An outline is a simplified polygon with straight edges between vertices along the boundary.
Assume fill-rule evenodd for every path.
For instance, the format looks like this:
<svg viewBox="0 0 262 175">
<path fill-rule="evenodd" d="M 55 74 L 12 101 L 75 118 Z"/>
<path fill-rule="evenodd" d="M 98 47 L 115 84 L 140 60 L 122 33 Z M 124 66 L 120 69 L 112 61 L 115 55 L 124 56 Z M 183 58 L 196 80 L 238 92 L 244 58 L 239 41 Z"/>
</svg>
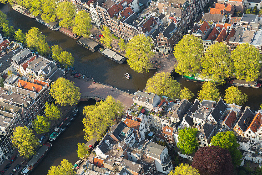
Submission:
<svg viewBox="0 0 262 175">
<path fill-rule="evenodd" d="M 57 0 L 42 0 L 42 10 L 41 18 L 49 23 L 56 20 L 56 8 Z"/>
</svg>

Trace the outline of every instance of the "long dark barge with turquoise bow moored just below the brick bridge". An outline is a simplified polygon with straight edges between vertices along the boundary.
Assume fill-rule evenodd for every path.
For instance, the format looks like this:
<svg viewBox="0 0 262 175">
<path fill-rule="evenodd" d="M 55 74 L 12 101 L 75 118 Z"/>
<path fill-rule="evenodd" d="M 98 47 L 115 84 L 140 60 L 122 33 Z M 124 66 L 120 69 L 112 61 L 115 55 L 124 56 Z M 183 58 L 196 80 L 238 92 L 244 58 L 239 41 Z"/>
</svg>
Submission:
<svg viewBox="0 0 262 175">
<path fill-rule="evenodd" d="M 53 141 L 58 136 L 60 136 L 64 132 L 64 130 L 68 127 L 68 125 L 74 120 L 77 113 L 78 113 L 78 107 L 76 106 L 72 111 L 69 112 L 68 116 L 65 117 L 65 119 L 61 123 L 59 123 L 57 127 L 54 128 L 54 131 L 49 136 L 49 140 Z"/>
</svg>

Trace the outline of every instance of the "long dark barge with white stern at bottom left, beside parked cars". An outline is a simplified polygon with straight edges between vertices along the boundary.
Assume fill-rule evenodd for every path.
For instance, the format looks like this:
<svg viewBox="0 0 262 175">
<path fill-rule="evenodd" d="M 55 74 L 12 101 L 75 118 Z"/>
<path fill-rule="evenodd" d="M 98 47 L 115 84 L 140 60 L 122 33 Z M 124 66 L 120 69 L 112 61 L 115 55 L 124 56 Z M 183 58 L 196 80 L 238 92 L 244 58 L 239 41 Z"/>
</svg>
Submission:
<svg viewBox="0 0 262 175">
<path fill-rule="evenodd" d="M 22 170 L 21 174 L 28 175 L 30 174 L 35 167 L 42 161 L 42 159 L 47 155 L 52 147 L 51 143 L 43 144 L 39 150 L 36 152 L 36 155 L 30 159 L 27 165 Z"/>
</svg>

